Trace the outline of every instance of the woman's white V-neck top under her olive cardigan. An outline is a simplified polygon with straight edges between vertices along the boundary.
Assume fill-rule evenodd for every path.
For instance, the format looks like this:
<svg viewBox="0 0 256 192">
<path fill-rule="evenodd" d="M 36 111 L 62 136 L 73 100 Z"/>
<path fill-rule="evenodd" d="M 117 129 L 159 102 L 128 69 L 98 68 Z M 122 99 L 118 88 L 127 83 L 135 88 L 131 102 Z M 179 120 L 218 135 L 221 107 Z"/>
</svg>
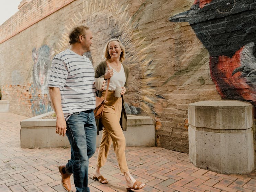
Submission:
<svg viewBox="0 0 256 192">
<path fill-rule="evenodd" d="M 110 78 L 110 82 L 109 82 L 109 90 L 114 91 L 115 87 L 123 87 L 126 82 L 123 65 L 121 64 L 121 70 L 119 72 L 117 72 L 114 68 L 110 66 L 109 68 L 113 69 L 113 76 Z M 105 72 L 107 71 L 108 71 L 108 68 L 106 69 Z M 106 80 L 106 85 L 104 90 L 107 89 L 107 84 L 108 84 L 108 79 Z"/>
</svg>

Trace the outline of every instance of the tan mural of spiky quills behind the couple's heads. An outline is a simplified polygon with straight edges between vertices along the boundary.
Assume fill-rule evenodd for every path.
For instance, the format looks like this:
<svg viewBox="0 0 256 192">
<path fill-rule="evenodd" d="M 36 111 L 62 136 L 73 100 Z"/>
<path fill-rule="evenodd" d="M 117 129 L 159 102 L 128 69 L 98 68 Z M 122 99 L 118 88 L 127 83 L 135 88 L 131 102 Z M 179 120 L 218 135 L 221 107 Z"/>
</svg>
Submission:
<svg viewBox="0 0 256 192">
<path fill-rule="evenodd" d="M 93 31 L 93 46 L 91 51 L 85 53 L 94 66 L 103 59 L 103 48 L 105 43 L 111 38 L 119 38 L 124 44 L 126 49 L 126 60 L 124 63 L 132 69 L 132 66 L 141 65 L 141 71 L 136 71 L 136 74 L 145 74 L 148 76 L 152 75 L 152 59 L 147 58 L 148 54 L 142 54 L 150 49 L 151 45 L 144 45 L 144 37 L 140 37 L 140 33 L 137 30 L 137 21 L 134 22 L 132 16 L 128 16 L 129 3 L 116 3 L 110 0 L 89 0 L 82 3 L 83 11 L 74 14 L 72 22 L 66 26 L 67 30 L 62 34 L 62 38 L 57 43 L 58 46 L 55 49 L 55 54 L 61 52 L 68 45 L 68 32 L 70 29 L 77 24 L 86 24 L 90 26 L 91 31 Z M 97 6 L 95 6 L 97 5 Z M 98 20 L 96 20 L 97 18 Z M 101 22 L 99 22 L 99 20 Z M 121 27 L 120 27 L 121 26 Z M 131 27 L 132 26 L 132 27 Z M 136 39 L 132 41 L 132 39 Z M 136 45 L 140 45 L 137 50 L 134 49 Z M 141 55 L 142 54 L 142 55 Z M 150 69 L 147 69 L 150 65 Z M 142 72 L 143 71 L 143 72 Z M 143 108 L 152 112 L 150 108 L 152 103 L 149 99 L 144 99 L 146 97 L 143 92 L 148 92 L 147 89 L 142 89 L 142 84 L 145 82 L 138 82 L 136 77 L 130 76 L 129 84 L 133 85 L 134 100 L 139 100 L 143 102 Z M 125 109 L 127 114 L 137 115 L 141 113 L 141 106 L 137 103 L 125 103 Z"/>
</svg>

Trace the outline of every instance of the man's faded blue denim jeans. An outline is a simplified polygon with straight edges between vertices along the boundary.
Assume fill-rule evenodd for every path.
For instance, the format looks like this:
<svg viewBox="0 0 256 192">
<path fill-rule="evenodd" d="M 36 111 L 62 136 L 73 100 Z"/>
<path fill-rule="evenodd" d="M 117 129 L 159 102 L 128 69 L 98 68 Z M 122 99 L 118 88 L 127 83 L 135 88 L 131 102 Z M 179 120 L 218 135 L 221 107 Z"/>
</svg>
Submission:
<svg viewBox="0 0 256 192">
<path fill-rule="evenodd" d="M 97 127 L 93 110 L 77 112 L 67 120 L 71 159 L 65 170 L 73 173 L 76 192 L 90 192 L 88 187 L 89 158 L 96 150 Z"/>
</svg>

